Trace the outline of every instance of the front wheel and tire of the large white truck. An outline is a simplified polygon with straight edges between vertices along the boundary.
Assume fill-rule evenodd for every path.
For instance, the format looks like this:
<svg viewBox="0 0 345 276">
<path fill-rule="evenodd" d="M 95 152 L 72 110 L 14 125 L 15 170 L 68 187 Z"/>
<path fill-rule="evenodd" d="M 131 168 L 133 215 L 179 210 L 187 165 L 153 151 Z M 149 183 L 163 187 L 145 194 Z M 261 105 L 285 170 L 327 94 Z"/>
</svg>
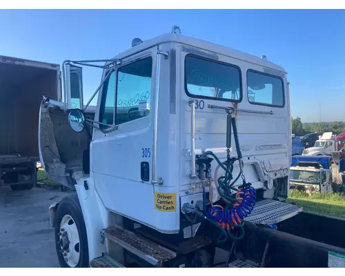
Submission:
<svg viewBox="0 0 345 276">
<path fill-rule="evenodd" d="M 70 219 L 68 220 L 68 217 Z M 66 220 L 67 219 L 67 220 Z M 64 223 L 63 221 L 68 221 Z M 61 222 L 63 223 L 61 225 Z M 75 226 L 73 226 L 75 224 Z M 61 235 L 61 227 L 65 229 L 65 237 Z M 76 230 L 77 228 L 77 230 Z M 55 246 L 57 250 L 57 257 L 59 259 L 59 264 L 62 268 L 87 268 L 89 264 L 88 256 L 88 237 L 86 235 L 86 226 L 83 219 L 83 213 L 81 212 L 81 207 L 77 195 L 70 195 L 64 197 L 58 207 L 57 213 L 55 215 Z M 77 233 L 79 239 L 71 239 L 70 235 L 66 233 Z M 76 237 L 73 235 L 73 237 Z M 70 241 L 72 244 L 78 242 L 75 246 L 68 245 L 66 241 Z M 66 243 L 64 243 L 65 241 Z M 68 253 L 65 251 L 61 252 L 64 248 L 68 248 Z M 63 256 L 66 254 L 66 259 Z M 79 257 L 75 257 L 75 256 Z"/>
</svg>

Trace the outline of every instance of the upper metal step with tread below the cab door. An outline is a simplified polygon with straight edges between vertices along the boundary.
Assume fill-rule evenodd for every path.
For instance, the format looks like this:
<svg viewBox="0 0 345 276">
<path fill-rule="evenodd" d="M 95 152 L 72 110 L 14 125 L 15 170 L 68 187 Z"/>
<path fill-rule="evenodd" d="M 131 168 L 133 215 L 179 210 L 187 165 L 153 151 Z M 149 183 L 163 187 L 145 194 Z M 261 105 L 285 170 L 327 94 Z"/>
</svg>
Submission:
<svg viewBox="0 0 345 276">
<path fill-rule="evenodd" d="M 115 242 L 128 252 L 148 262 L 152 266 L 161 267 L 165 262 L 176 257 L 176 253 L 164 248 L 150 239 L 141 237 L 121 226 L 112 226 L 101 230 L 101 236 Z"/>
</svg>

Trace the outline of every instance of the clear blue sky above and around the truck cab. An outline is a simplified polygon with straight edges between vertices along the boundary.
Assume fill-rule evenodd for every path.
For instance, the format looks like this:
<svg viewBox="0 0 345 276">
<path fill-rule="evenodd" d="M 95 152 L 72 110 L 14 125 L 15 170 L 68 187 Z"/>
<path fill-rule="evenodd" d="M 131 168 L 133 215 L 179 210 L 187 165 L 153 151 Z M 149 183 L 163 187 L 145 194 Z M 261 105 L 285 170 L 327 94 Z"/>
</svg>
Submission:
<svg viewBox="0 0 345 276">
<path fill-rule="evenodd" d="M 321 104 L 322 121 L 345 120 L 344 10 L 0 10 L 0 55 L 109 58 L 173 25 L 286 68 L 293 117 L 319 121 Z M 84 75 L 86 98 L 100 75 Z"/>
</svg>

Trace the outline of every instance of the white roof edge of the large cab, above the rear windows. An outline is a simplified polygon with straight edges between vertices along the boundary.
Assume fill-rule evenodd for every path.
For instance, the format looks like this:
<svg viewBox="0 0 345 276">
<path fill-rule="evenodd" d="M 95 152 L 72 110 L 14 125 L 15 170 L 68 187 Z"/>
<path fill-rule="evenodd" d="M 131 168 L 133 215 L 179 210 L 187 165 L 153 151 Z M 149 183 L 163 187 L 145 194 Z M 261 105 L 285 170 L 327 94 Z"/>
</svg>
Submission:
<svg viewBox="0 0 345 276">
<path fill-rule="evenodd" d="M 183 34 L 175 34 L 172 32 L 161 34 L 158 37 L 154 37 L 152 39 L 143 41 L 142 43 L 139 43 L 137 46 L 131 47 L 128 50 L 121 52 L 119 55 L 114 57 L 114 59 L 124 59 L 125 57 L 129 57 L 130 55 L 134 55 L 137 52 L 141 52 L 143 50 L 157 46 L 162 43 L 181 43 L 181 44 L 184 44 L 185 46 L 191 46 L 191 47 L 199 48 L 200 50 L 207 50 L 218 55 L 225 55 L 228 57 L 232 57 L 234 59 L 239 59 L 242 61 L 254 63 L 259 66 L 277 70 L 279 72 L 283 72 L 284 74 L 286 74 L 286 70 L 284 68 L 282 68 L 281 66 L 278 66 L 277 64 L 273 62 L 266 61 L 265 59 L 255 57 L 254 55 L 249 55 L 246 52 L 241 52 L 239 50 L 228 48 L 226 46 L 221 46 L 216 43 L 204 41 L 201 39 L 195 39 L 193 37 L 186 37 Z"/>
</svg>

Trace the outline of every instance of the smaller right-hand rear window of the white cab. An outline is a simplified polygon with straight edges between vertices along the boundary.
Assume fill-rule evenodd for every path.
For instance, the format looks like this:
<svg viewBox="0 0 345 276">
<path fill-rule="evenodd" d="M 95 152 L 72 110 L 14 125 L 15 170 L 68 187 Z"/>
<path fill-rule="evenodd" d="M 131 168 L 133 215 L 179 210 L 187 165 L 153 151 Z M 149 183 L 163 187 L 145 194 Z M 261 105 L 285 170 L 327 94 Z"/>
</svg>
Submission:
<svg viewBox="0 0 345 276">
<path fill-rule="evenodd" d="M 248 101 L 262 106 L 284 107 L 283 80 L 253 70 L 247 71 Z"/>
</svg>

